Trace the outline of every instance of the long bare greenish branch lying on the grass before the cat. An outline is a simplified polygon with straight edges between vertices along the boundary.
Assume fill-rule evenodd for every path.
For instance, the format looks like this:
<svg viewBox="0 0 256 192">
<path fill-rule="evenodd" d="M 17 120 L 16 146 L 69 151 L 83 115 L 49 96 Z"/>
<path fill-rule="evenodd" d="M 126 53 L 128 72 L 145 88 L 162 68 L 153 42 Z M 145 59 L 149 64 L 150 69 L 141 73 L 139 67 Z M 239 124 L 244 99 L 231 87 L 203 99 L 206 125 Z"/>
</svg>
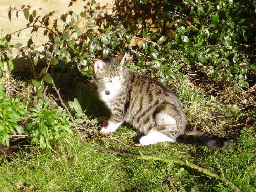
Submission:
<svg viewBox="0 0 256 192">
<path fill-rule="evenodd" d="M 159 157 L 159 156 L 143 155 L 142 153 L 140 153 L 140 155 L 130 154 L 130 153 L 121 153 L 121 152 L 108 150 L 108 149 L 100 147 L 100 146 L 95 146 L 94 144 L 90 144 L 90 143 L 86 143 L 86 144 L 90 145 L 92 148 L 94 148 L 97 151 L 114 154 L 116 156 L 130 157 L 130 158 L 143 159 L 143 160 L 163 161 L 163 162 L 168 162 L 168 163 L 175 163 L 175 164 L 182 165 L 182 166 L 187 166 L 187 167 L 190 167 L 192 169 L 196 169 L 198 172 L 201 172 L 201 173 L 203 173 L 207 176 L 215 178 L 216 180 L 222 181 L 226 185 L 232 187 L 235 191 L 238 191 L 238 192 L 240 191 L 240 189 L 238 187 L 236 187 L 233 183 L 231 183 L 229 180 L 227 180 L 224 177 L 223 172 L 221 173 L 221 176 L 218 176 L 217 174 L 212 173 L 210 170 L 207 170 L 205 168 L 197 166 L 197 165 L 195 165 L 193 163 L 190 163 L 188 161 L 182 161 L 180 159 L 171 159 L 171 158 L 165 158 L 165 157 Z"/>
</svg>

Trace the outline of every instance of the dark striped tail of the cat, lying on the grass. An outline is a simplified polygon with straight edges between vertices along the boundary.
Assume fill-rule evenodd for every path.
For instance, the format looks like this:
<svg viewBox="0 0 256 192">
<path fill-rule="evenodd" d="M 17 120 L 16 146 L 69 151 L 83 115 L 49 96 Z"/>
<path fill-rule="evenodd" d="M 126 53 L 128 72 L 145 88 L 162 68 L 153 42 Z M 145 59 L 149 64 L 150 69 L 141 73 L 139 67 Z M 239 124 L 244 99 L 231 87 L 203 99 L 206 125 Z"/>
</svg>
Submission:
<svg viewBox="0 0 256 192">
<path fill-rule="evenodd" d="M 211 135 L 206 131 L 193 130 L 186 135 L 198 138 L 210 148 L 228 148 L 230 146 L 230 141 L 228 138 L 221 138 L 215 135 Z"/>
</svg>

